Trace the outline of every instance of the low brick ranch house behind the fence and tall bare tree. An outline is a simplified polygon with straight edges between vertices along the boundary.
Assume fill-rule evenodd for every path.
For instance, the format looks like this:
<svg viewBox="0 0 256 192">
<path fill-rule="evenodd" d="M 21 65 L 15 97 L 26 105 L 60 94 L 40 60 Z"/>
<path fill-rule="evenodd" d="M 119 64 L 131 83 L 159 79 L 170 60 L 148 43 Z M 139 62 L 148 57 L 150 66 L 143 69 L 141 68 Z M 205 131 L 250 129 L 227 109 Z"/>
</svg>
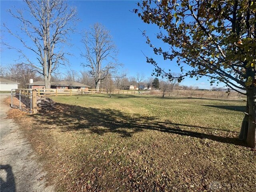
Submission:
<svg viewBox="0 0 256 192">
<path fill-rule="evenodd" d="M 30 80 L 31 81 L 31 80 Z M 28 84 L 29 89 L 44 89 L 44 81 L 30 82 Z M 90 86 L 84 85 L 82 83 L 73 82 L 73 81 L 60 81 L 60 82 L 51 82 L 52 89 L 83 89 L 88 90 Z"/>
</svg>

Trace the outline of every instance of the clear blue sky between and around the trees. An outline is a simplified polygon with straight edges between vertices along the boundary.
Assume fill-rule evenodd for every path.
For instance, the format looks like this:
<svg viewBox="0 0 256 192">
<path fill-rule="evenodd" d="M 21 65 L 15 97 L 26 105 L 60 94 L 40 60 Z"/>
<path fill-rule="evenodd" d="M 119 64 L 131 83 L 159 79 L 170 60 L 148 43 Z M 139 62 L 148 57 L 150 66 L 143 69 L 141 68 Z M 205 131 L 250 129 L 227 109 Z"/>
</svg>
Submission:
<svg viewBox="0 0 256 192">
<path fill-rule="evenodd" d="M 82 43 L 80 42 L 80 32 L 84 29 L 88 29 L 91 24 L 95 22 L 102 23 L 113 36 L 113 40 L 119 49 L 118 61 L 124 64 L 123 70 L 128 72 L 129 76 L 135 76 L 137 72 L 143 72 L 147 77 L 151 76 L 154 66 L 146 63 L 146 58 L 142 52 L 148 56 L 153 57 L 164 69 L 171 69 L 172 72 L 180 72 L 176 67 L 175 60 L 173 64 L 170 61 L 164 61 L 161 56 L 156 56 L 152 49 L 146 44 L 146 39 L 142 36 L 140 30 L 146 30 L 147 35 L 153 40 L 155 46 L 161 46 L 162 48 L 168 48 L 167 45 L 163 45 L 156 40 L 155 34 L 159 31 L 158 26 L 152 24 L 145 24 L 138 16 L 130 11 L 133 8 L 137 8 L 138 1 L 68 1 L 70 6 L 76 6 L 78 11 L 78 18 L 80 22 L 77 24 L 77 32 L 71 34 L 70 38 L 74 46 L 70 48 L 70 52 L 73 56 L 70 56 L 70 68 L 74 70 L 83 70 L 81 62 L 83 58 L 80 57 L 80 48 Z M 6 12 L 8 8 L 16 9 L 24 7 L 23 1 L 0 1 L 1 11 L 1 25 L 6 23 L 11 30 L 18 31 L 18 21 L 12 18 L 10 14 Z M 15 6 L 15 8 L 13 7 Z M 1 29 L 3 29 L 1 27 Z M 16 38 L 10 36 L 6 32 L 2 32 L 4 40 L 12 46 L 19 46 L 22 48 Z M 12 64 L 18 59 L 19 54 L 14 50 L 8 50 L 1 48 L 1 65 L 7 66 Z M 65 72 L 69 67 L 61 68 L 61 72 Z M 184 69 L 189 69 L 185 67 Z M 210 88 L 210 83 L 207 78 L 201 78 L 196 81 L 194 78 L 186 78 L 182 81 L 183 85 L 195 85 L 200 88 Z"/>
</svg>

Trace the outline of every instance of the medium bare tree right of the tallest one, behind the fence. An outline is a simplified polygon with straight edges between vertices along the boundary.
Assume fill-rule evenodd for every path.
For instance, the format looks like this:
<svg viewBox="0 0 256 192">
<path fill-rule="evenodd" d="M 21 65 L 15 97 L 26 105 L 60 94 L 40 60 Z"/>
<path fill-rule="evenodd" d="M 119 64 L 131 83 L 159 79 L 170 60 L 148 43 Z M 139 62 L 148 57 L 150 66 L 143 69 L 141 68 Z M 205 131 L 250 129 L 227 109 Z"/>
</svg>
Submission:
<svg viewBox="0 0 256 192">
<path fill-rule="evenodd" d="M 110 74 L 114 76 L 118 67 L 121 66 L 116 60 L 118 50 L 112 41 L 110 31 L 99 23 L 90 26 L 90 30 L 84 31 L 82 43 L 84 52 L 81 56 L 86 59 L 82 65 L 90 69 L 95 87 L 99 89 L 100 83 Z"/>
</svg>

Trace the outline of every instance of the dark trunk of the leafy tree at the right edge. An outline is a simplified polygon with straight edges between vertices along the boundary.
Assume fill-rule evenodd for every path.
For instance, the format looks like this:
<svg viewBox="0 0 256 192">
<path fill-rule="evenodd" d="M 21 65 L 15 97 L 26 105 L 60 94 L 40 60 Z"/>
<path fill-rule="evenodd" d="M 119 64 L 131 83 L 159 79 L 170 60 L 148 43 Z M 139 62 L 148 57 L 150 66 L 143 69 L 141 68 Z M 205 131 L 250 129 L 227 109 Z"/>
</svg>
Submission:
<svg viewBox="0 0 256 192">
<path fill-rule="evenodd" d="M 251 148 L 256 148 L 256 87 L 247 88 L 248 99 L 248 132 L 246 143 Z"/>
</svg>

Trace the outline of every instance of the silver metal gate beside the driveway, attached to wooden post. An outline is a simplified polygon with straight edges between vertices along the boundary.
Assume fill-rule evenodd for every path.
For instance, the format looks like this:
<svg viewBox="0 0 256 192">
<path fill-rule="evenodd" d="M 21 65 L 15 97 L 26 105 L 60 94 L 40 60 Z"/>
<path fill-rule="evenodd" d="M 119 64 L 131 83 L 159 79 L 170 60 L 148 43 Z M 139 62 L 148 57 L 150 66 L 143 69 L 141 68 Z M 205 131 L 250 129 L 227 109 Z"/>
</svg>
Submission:
<svg viewBox="0 0 256 192">
<path fill-rule="evenodd" d="M 12 89 L 11 107 L 32 113 L 32 89 Z"/>
</svg>

